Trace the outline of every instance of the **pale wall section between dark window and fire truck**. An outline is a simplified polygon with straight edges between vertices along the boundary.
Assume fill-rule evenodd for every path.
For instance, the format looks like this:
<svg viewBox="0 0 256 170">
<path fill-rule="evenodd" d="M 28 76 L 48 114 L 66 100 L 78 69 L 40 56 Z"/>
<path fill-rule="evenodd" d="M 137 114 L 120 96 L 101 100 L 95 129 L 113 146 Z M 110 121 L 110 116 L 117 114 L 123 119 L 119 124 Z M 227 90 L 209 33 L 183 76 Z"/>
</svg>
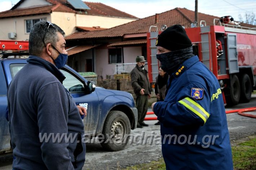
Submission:
<svg viewBox="0 0 256 170">
<path fill-rule="evenodd" d="M 136 62 L 136 57 L 142 55 L 142 47 L 124 47 L 124 63 Z"/>
</svg>

